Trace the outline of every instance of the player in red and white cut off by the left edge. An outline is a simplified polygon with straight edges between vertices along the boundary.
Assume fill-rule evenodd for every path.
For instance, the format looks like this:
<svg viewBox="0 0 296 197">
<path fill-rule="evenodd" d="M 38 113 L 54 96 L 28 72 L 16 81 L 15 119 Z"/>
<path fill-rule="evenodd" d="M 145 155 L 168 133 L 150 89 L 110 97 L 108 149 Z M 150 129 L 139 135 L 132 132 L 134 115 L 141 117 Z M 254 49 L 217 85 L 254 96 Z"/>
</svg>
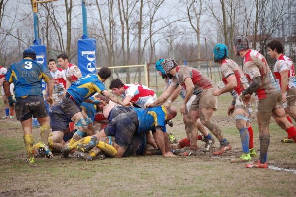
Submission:
<svg viewBox="0 0 296 197">
<path fill-rule="evenodd" d="M 5 74 L 7 73 L 7 69 L 5 67 L 0 66 L 0 87 L 2 87 L 4 81 L 5 81 Z M 14 85 L 13 83 L 10 84 L 10 92 L 13 93 L 13 88 Z M 14 109 L 12 107 L 9 107 L 8 105 L 8 100 L 7 100 L 7 96 L 5 95 L 4 92 L 4 87 L 2 87 L 2 99 L 5 105 L 5 116 L 1 117 L 1 118 L 14 118 Z M 10 113 L 9 113 L 10 111 Z"/>
</svg>

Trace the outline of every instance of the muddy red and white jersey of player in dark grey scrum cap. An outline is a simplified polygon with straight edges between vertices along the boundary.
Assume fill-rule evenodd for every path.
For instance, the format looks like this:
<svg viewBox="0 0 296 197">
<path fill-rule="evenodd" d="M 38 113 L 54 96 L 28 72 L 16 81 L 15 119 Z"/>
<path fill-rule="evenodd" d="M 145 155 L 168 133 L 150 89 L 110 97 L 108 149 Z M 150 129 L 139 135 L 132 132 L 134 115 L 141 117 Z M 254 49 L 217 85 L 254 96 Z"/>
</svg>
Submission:
<svg viewBox="0 0 296 197">
<path fill-rule="evenodd" d="M 248 80 L 261 78 L 262 86 L 256 91 L 258 99 L 265 99 L 280 92 L 280 86 L 275 81 L 265 57 L 255 50 L 249 50 L 244 57 L 244 72 Z"/>
</svg>

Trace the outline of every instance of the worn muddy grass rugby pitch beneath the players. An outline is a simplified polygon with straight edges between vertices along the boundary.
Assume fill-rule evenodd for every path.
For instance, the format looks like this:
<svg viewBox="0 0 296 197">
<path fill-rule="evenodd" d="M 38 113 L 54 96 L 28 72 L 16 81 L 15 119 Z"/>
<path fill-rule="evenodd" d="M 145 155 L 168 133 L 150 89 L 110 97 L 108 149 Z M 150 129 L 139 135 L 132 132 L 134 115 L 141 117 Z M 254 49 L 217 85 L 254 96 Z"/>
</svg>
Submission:
<svg viewBox="0 0 296 197">
<path fill-rule="evenodd" d="M 230 100 L 230 95 L 220 96 L 219 108 L 213 117 L 233 146 L 232 151 L 220 157 L 212 156 L 219 147 L 216 140 L 209 153 L 200 152 L 198 156 L 141 156 L 85 162 L 55 155 L 52 159 L 37 158 L 37 167 L 30 167 L 24 163 L 26 151 L 21 125 L 16 119 L 0 120 L 0 196 L 295 197 L 296 171 L 246 169 L 244 164 L 230 163 L 230 159 L 241 154 L 234 118 L 226 115 Z M 180 106 L 180 100 L 175 105 Z M 3 116 L 3 104 L 0 109 Z M 259 156 L 256 118 L 252 120 Z M 170 131 L 177 139 L 185 137 L 180 114 Z M 274 121 L 270 131 L 269 165 L 296 170 L 296 144 L 280 142 L 286 132 Z M 33 135 L 38 142 L 39 129 L 34 129 Z M 198 145 L 203 147 L 204 143 L 199 141 Z"/>
</svg>

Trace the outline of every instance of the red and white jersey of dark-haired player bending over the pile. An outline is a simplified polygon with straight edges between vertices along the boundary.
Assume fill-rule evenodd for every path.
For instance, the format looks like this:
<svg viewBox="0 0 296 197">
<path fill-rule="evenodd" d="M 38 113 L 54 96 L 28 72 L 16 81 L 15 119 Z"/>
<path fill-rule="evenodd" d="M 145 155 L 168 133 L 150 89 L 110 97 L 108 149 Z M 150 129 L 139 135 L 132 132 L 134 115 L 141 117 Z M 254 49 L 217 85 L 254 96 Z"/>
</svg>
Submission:
<svg viewBox="0 0 296 197">
<path fill-rule="evenodd" d="M 124 99 L 127 96 L 132 96 L 131 103 L 135 104 L 145 103 L 150 96 L 155 94 L 152 89 L 137 83 L 125 84 L 123 89 L 124 93 L 121 94 L 121 98 Z"/>
</svg>

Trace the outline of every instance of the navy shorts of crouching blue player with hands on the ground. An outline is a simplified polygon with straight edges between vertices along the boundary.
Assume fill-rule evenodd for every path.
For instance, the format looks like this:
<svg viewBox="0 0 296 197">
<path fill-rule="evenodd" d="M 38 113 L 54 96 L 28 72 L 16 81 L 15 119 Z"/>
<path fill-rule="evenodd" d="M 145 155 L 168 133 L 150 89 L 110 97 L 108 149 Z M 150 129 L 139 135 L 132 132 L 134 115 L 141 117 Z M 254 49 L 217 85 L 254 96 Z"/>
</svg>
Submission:
<svg viewBox="0 0 296 197">
<path fill-rule="evenodd" d="M 106 136 L 115 136 L 115 143 L 123 149 L 130 145 L 133 135 L 139 127 L 138 116 L 135 112 L 119 114 L 105 128 Z"/>
</svg>

